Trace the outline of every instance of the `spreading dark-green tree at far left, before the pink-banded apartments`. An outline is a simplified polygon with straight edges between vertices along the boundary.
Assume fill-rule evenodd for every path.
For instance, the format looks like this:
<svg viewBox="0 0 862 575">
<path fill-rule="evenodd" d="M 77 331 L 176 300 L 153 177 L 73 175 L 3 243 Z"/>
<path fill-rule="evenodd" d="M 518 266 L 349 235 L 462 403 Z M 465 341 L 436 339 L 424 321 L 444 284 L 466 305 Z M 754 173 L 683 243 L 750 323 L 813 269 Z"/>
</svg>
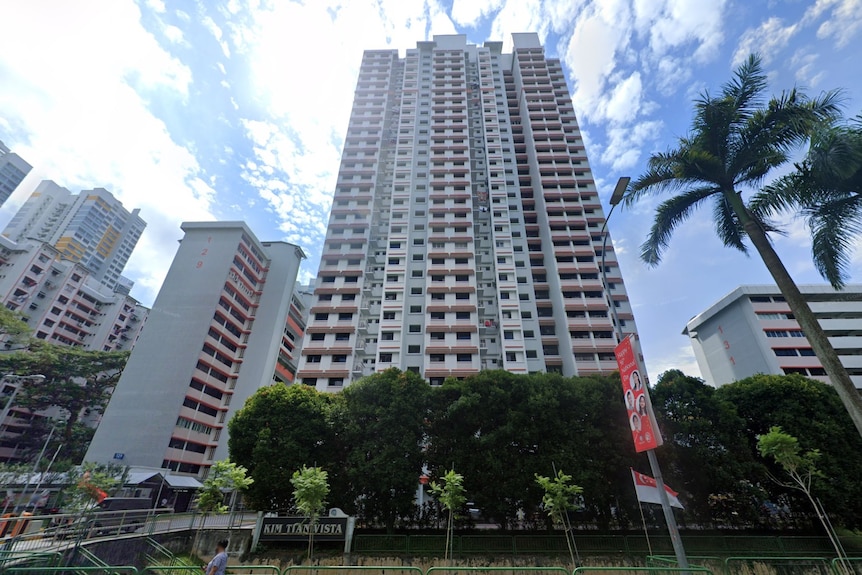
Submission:
<svg viewBox="0 0 862 575">
<path fill-rule="evenodd" d="M 28 381 L 18 393 L 15 404 L 31 413 L 57 410 L 59 433 L 55 445 L 62 445 L 60 459 L 77 463 L 83 459 L 92 438 L 82 432 L 83 418 L 97 419 L 104 413 L 111 393 L 128 360 L 127 351 L 91 351 L 33 341 L 28 350 L 0 355 L 0 372 L 17 375 L 41 374 L 42 381 Z M 41 447 L 51 425 L 42 421 L 25 434 L 23 447 Z"/>
</svg>

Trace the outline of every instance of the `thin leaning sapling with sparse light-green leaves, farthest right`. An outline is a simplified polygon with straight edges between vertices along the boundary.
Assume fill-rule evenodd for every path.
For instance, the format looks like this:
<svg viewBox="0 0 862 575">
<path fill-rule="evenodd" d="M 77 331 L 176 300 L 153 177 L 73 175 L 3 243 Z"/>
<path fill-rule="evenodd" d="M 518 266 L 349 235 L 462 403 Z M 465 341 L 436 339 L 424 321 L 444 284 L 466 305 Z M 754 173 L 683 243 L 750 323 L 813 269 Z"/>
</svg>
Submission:
<svg viewBox="0 0 862 575">
<path fill-rule="evenodd" d="M 809 449 L 802 451 L 799 446 L 799 440 L 784 433 L 781 427 L 773 426 L 769 428 L 769 432 L 757 436 L 757 449 L 763 457 L 768 457 L 781 466 L 790 482 L 782 482 L 776 479 L 776 482 L 785 487 L 798 489 L 805 494 L 811 506 L 814 508 L 814 513 L 817 519 L 820 520 L 823 529 L 829 536 L 829 541 L 835 548 L 835 552 L 839 557 L 843 556 L 841 544 L 838 543 L 837 536 L 829 526 L 817 500 L 812 495 L 812 487 L 814 480 L 823 477 L 823 473 L 817 469 L 817 460 L 820 459 L 820 451 L 817 449 Z M 852 571 L 847 571 L 848 573 Z"/>
</svg>

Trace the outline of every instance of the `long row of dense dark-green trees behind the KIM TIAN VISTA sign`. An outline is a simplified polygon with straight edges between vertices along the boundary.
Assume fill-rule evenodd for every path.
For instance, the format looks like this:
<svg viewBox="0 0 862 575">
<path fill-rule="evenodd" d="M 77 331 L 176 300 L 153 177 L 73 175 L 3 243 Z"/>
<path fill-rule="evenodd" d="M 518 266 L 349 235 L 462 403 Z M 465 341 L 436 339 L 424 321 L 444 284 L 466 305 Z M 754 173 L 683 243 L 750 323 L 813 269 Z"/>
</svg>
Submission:
<svg viewBox="0 0 862 575">
<path fill-rule="evenodd" d="M 778 526 L 787 518 L 767 511 L 785 502 L 810 514 L 793 490 L 770 481 L 781 470 L 757 450 L 757 436 L 780 425 L 806 450 L 820 451 L 826 477 L 815 495 L 830 516 L 862 525 L 862 440 L 828 385 L 757 376 L 715 389 L 670 371 L 652 394 L 665 438 L 657 454 L 686 521 Z M 442 508 L 420 520 L 414 493 L 423 471 L 439 484 L 453 468 L 470 506 L 503 526 L 549 526 L 536 475 L 551 477 L 556 468 L 583 488 L 573 523 L 631 527 L 640 514 L 629 468 L 649 473 L 634 452 L 618 376 L 491 371 L 431 387 L 388 370 L 340 394 L 273 386 L 249 399 L 230 432 L 231 459 L 255 480 L 253 507 L 290 508 L 292 474 L 315 466 L 329 476 L 330 505 L 387 528 L 445 522 Z"/>
</svg>

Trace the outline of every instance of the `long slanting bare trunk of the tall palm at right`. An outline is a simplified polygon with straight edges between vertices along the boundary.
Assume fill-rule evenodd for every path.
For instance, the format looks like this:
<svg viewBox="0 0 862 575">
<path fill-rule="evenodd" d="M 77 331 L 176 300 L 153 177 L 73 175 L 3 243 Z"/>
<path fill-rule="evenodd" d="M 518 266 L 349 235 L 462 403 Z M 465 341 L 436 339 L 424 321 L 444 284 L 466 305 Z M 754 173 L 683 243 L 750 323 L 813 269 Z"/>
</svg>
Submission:
<svg viewBox="0 0 862 575">
<path fill-rule="evenodd" d="M 823 369 L 826 370 L 832 387 L 835 388 L 844 408 L 850 414 L 853 425 L 856 426 L 859 435 L 862 435 L 862 395 L 859 395 L 853 380 L 850 379 L 850 374 L 847 373 L 835 352 L 835 348 L 829 342 L 826 332 L 823 331 L 820 322 L 817 321 L 814 312 L 811 311 L 811 307 L 796 286 L 796 282 L 790 277 L 790 273 L 772 247 L 766 232 L 748 213 L 742 198 L 733 191 L 726 191 L 724 197 L 742 223 L 746 235 L 751 239 L 757 253 L 760 254 L 766 269 L 769 270 L 775 283 L 778 284 L 778 289 L 781 290 L 781 294 L 787 300 L 787 305 L 790 306 L 796 321 L 799 322 L 808 343 L 811 344 L 817 359 L 820 360 Z"/>
</svg>

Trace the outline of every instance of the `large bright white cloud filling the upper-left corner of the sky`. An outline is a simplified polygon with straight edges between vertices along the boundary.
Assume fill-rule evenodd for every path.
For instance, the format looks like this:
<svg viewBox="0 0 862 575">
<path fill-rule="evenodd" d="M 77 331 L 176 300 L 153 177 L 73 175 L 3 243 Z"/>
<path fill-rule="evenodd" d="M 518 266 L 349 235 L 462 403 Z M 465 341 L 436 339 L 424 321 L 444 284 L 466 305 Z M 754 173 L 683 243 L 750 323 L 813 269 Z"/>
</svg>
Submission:
<svg viewBox="0 0 862 575">
<path fill-rule="evenodd" d="M 33 42 L 38 30 L 50 42 Z M 26 50 L 22 49 L 26 46 Z M 62 47 L 62 49 L 58 49 Z M 127 273 L 152 301 L 181 236 L 181 219 L 211 219 L 213 191 L 189 150 L 153 116 L 155 96 L 183 100 L 191 72 L 140 24 L 131 1 L 39 2 L 0 8 L 0 110 L 35 166 L 30 186 L 105 187 L 149 226 Z"/>
</svg>

